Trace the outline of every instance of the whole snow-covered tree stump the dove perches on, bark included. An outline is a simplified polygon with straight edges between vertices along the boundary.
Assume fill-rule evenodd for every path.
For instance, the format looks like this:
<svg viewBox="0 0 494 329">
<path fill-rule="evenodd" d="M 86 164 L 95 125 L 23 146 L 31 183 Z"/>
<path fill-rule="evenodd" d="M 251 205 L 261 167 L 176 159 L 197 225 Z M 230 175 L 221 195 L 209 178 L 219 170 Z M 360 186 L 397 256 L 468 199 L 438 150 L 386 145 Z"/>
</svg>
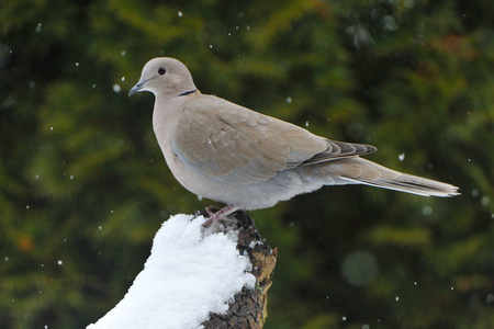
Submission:
<svg viewBox="0 0 494 329">
<path fill-rule="evenodd" d="M 202 223 L 202 215 L 165 222 L 127 294 L 87 329 L 262 328 L 276 249 L 245 212 L 217 234 Z"/>
</svg>

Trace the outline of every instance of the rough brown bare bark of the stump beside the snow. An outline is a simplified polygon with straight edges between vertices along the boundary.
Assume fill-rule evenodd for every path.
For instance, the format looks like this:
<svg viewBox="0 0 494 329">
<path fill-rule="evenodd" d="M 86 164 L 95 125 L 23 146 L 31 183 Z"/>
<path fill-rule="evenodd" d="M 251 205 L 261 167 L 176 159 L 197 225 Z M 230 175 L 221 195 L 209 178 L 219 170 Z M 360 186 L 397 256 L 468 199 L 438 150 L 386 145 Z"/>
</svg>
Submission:
<svg viewBox="0 0 494 329">
<path fill-rule="evenodd" d="M 244 287 L 235 295 L 226 314 L 212 314 L 202 326 L 206 329 L 262 328 L 268 317 L 268 290 L 277 263 L 277 249 L 262 242 L 254 219 L 244 211 L 235 212 L 223 224 L 225 230 L 238 230 L 237 249 L 240 254 L 249 256 L 256 286 L 254 290 Z"/>
</svg>

